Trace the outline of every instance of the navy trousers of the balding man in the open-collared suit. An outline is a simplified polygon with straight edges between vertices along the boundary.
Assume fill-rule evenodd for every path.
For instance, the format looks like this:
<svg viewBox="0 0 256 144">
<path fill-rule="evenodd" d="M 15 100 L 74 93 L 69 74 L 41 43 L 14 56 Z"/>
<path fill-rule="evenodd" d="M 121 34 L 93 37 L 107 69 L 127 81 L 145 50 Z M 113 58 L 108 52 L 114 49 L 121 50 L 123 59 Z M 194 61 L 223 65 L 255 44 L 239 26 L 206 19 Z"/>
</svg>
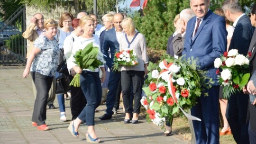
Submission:
<svg viewBox="0 0 256 144">
<path fill-rule="evenodd" d="M 110 116 L 114 114 L 112 110 L 116 103 L 116 94 L 117 94 L 120 78 L 121 78 L 121 72 L 110 71 L 109 86 L 108 86 L 109 92 L 107 94 L 107 99 L 106 99 L 106 106 L 107 106 L 106 114 Z"/>
</svg>

